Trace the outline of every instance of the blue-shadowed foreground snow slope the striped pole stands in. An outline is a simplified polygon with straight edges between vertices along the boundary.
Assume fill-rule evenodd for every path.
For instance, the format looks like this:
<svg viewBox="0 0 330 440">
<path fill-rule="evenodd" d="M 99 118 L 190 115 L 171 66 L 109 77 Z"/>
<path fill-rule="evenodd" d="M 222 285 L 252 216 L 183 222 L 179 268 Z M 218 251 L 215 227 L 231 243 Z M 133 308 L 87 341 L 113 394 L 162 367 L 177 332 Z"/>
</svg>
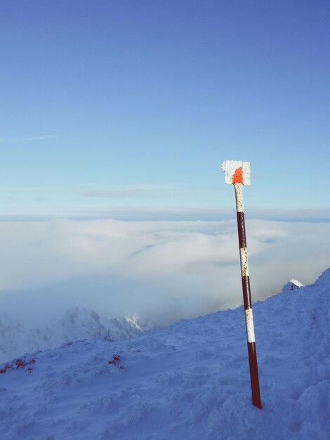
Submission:
<svg viewBox="0 0 330 440">
<path fill-rule="evenodd" d="M 253 305 L 262 410 L 239 307 L 2 365 L 0 438 L 329 439 L 329 290 L 330 269 Z"/>
</svg>

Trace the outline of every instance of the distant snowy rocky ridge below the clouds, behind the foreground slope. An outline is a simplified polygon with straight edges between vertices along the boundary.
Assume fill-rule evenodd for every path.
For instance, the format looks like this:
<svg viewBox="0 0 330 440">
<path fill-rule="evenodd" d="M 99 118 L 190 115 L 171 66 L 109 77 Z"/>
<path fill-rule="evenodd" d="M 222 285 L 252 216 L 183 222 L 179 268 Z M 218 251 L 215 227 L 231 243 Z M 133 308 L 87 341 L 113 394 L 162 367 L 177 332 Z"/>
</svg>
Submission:
<svg viewBox="0 0 330 440">
<path fill-rule="evenodd" d="M 74 307 L 44 325 L 13 321 L 6 313 L 0 315 L 0 362 L 24 353 L 55 348 L 65 342 L 93 337 L 121 341 L 150 331 L 152 324 L 138 316 L 101 318 L 93 310 Z"/>
</svg>

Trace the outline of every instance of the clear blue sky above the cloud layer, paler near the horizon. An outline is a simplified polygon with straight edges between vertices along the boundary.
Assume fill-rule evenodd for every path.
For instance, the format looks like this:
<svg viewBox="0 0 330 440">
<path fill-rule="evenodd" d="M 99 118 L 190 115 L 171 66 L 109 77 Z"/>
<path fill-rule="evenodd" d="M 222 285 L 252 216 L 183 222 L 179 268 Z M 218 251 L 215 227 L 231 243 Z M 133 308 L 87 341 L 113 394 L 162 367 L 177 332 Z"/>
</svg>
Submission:
<svg viewBox="0 0 330 440">
<path fill-rule="evenodd" d="M 329 17 L 318 0 L 1 0 L 1 218 L 221 219 L 235 159 L 246 212 L 329 220 Z"/>
</svg>

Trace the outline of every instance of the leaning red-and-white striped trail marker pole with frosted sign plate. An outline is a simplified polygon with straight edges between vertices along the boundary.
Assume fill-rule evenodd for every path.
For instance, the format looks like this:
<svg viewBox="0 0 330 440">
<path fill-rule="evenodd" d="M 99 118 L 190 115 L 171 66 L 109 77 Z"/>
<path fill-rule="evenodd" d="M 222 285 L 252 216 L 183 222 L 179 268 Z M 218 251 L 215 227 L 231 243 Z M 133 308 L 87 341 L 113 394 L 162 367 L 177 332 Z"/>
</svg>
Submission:
<svg viewBox="0 0 330 440">
<path fill-rule="evenodd" d="M 239 258 L 241 260 L 242 288 L 245 311 L 246 339 L 249 353 L 252 403 L 262 408 L 260 399 L 256 338 L 254 335 L 252 301 L 250 290 L 249 264 L 246 247 L 246 233 L 243 204 L 243 185 L 250 185 L 250 162 L 225 160 L 221 168 L 225 172 L 225 183 L 234 185 L 237 209 L 237 228 L 239 240 Z"/>
</svg>

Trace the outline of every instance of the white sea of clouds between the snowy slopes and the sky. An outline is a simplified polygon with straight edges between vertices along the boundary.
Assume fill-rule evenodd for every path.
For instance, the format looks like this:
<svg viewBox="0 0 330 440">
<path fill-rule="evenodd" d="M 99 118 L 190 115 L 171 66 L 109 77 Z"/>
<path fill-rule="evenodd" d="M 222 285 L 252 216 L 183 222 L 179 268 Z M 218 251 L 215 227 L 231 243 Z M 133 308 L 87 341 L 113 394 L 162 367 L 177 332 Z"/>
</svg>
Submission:
<svg viewBox="0 0 330 440">
<path fill-rule="evenodd" d="M 246 221 L 253 301 L 330 266 L 330 224 Z M 242 304 L 235 221 L 0 223 L 0 305 L 47 323 L 71 306 L 159 325 Z"/>
</svg>

